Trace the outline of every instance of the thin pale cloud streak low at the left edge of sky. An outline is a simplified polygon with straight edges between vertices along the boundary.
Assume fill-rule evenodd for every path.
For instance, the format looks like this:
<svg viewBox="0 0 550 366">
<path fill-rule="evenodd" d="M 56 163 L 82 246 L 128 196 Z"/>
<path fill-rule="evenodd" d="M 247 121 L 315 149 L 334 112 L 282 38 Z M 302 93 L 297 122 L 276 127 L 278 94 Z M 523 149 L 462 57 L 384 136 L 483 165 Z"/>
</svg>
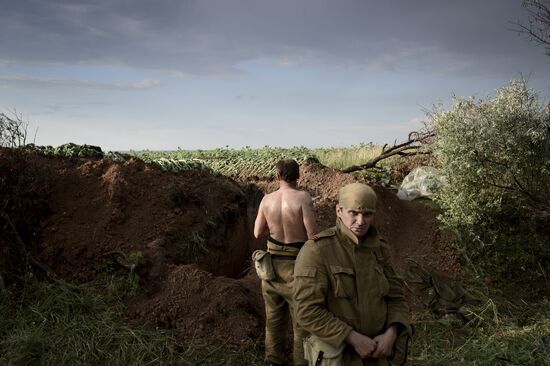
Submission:
<svg viewBox="0 0 550 366">
<path fill-rule="evenodd" d="M 9 73 L 0 73 L 0 81 L 22 87 L 55 87 L 94 90 L 145 90 L 156 88 L 161 85 L 161 82 L 158 80 L 140 80 L 136 82 L 116 81 L 104 83 L 92 80 L 55 79 Z"/>
</svg>

